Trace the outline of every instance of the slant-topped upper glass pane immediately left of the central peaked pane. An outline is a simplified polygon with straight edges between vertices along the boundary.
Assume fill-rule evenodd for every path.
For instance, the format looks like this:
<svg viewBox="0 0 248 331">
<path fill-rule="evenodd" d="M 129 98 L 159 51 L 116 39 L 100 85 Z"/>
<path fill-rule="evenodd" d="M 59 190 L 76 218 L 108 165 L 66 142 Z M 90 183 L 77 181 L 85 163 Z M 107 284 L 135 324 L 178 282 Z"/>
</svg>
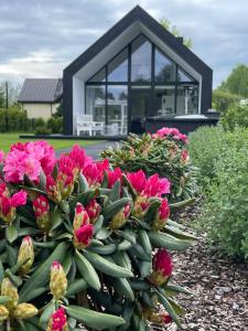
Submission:
<svg viewBox="0 0 248 331">
<path fill-rule="evenodd" d="M 108 64 L 108 82 L 128 81 L 128 49 L 125 49 Z"/>
</svg>

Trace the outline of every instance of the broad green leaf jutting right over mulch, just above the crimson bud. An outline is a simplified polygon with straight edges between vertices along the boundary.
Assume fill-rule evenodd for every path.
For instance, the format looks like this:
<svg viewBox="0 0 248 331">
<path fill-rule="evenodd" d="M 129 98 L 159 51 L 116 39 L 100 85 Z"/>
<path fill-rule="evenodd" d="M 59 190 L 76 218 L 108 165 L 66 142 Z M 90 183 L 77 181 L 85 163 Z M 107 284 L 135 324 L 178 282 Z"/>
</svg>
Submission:
<svg viewBox="0 0 248 331">
<path fill-rule="evenodd" d="M 154 247 L 164 247 L 169 250 L 184 250 L 192 244 L 188 241 L 176 239 L 161 232 L 151 232 L 149 237 Z"/>
</svg>

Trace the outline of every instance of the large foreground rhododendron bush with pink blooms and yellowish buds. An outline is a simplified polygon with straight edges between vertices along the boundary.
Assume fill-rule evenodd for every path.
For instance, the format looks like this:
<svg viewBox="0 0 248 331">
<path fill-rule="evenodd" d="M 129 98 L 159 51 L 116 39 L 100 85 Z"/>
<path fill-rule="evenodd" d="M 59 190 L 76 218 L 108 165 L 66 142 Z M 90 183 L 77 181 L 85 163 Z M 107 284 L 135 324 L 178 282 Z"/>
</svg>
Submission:
<svg viewBox="0 0 248 331">
<path fill-rule="evenodd" d="M 17 143 L 0 160 L 0 330 L 145 330 L 180 323 L 171 182 L 78 146 Z M 182 207 L 182 202 L 180 206 Z M 79 329 L 78 329 L 79 330 Z"/>
</svg>

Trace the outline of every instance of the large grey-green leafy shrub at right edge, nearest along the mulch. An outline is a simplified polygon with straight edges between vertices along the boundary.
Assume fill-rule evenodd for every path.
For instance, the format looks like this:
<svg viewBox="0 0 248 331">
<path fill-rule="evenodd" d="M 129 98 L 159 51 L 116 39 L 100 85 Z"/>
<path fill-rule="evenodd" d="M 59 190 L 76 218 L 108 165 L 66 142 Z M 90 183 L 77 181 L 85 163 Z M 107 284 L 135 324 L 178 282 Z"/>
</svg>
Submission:
<svg viewBox="0 0 248 331">
<path fill-rule="evenodd" d="M 248 136 L 247 136 L 248 138 Z M 248 258 L 248 149 L 227 148 L 215 164 L 203 224 L 212 241 L 231 257 Z"/>
</svg>

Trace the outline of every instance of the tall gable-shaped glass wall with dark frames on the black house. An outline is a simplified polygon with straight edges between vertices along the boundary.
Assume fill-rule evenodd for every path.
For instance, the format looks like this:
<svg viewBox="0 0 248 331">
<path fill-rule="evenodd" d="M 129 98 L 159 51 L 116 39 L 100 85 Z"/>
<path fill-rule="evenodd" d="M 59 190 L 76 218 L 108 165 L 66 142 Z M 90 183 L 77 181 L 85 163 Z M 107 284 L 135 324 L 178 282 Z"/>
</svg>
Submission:
<svg viewBox="0 0 248 331">
<path fill-rule="evenodd" d="M 85 95 L 85 116 L 105 135 L 141 131 L 147 116 L 198 113 L 198 82 L 142 34 L 86 82 Z"/>
</svg>

